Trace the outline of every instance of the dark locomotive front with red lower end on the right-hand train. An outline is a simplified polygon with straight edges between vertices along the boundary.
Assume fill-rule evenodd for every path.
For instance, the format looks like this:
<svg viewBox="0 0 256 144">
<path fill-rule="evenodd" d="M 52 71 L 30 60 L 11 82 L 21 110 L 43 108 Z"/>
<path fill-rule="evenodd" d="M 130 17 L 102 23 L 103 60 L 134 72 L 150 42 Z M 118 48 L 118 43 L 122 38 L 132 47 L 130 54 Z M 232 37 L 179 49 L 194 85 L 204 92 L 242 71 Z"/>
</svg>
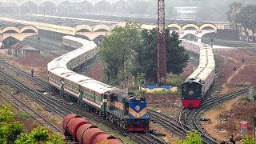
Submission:
<svg viewBox="0 0 256 144">
<path fill-rule="evenodd" d="M 182 104 L 186 108 L 196 108 L 202 103 L 202 82 L 200 78 L 189 78 L 182 83 Z"/>
</svg>

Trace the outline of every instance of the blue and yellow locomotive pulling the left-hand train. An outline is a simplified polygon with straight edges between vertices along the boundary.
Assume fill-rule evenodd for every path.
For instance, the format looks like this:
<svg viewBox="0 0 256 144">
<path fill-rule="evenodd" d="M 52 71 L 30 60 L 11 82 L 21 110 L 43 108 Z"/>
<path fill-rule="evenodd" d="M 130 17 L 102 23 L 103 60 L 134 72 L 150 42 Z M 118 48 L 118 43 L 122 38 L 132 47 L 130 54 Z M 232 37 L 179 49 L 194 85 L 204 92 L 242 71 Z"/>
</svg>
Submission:
<svg viewBox="0 0 256 144">
<path fill-rule="evenodd" d="M 115 90 L 109 94 L 106 118 L 128 131 L 149 130 L 146 98 L 136 98 L 133 93 Z"/>
</svg>

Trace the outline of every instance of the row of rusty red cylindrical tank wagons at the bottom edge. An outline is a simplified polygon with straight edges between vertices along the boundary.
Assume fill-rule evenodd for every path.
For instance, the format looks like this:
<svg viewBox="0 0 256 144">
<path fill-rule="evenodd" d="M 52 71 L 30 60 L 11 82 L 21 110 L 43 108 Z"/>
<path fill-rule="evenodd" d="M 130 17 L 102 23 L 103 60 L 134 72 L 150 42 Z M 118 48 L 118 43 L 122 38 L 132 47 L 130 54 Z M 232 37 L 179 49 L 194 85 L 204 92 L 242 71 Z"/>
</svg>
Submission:
<svg viewBox="0 0 256 144">
<path fill-rule="evenodd" d="M 122 144 L 122 140 L 106 134 L 77 114 L 68 114 L 63 118 L 62 128 L 67 138 L 83 144 Z"/>
</svg>

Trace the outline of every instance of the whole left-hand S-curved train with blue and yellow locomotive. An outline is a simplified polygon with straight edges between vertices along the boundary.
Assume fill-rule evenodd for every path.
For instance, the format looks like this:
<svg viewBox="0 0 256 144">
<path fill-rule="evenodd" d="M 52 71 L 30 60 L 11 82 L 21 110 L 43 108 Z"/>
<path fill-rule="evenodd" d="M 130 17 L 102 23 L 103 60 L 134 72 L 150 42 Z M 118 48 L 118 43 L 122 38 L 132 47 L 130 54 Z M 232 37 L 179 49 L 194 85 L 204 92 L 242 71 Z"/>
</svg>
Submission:
<svg viewBox="0 0 256 144">
<path fill-rule="evenodd" d="M 72 71 L 94 57 L 97 53 L 96 44 L 71 36 L 63 38 L 63 43 L 66 42 L 74 42 L 72 45 L 78 47 L 48 63 L 51 88 L 75 98 L 86 110 L 92 110 L 128 131 L 149 130 L 146 98 L 127 94 L 124 90 Z"/>
</svg>

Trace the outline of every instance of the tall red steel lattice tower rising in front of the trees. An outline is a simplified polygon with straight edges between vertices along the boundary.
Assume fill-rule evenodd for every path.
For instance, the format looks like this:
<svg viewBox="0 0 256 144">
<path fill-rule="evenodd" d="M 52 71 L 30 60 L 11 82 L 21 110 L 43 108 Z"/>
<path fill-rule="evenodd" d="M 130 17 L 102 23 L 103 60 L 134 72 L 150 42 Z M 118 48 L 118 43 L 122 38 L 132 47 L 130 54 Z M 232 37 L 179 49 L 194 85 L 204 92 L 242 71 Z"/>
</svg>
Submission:
<svg viewBox="0 0 256 144">
<path fill-rule="evenodd" d="M 166 85 L 165 0 L 158 0 L 158 85 Z"/>
</svg>

